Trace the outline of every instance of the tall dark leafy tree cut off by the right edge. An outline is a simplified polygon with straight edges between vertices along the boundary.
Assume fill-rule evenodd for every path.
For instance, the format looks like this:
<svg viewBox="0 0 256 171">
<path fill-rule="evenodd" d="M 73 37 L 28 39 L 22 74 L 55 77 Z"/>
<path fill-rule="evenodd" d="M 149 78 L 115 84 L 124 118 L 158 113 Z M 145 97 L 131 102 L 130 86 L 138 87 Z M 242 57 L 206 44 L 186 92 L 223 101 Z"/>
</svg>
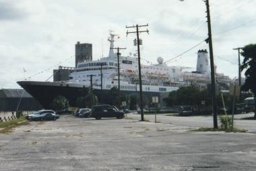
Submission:
<svg viewBox="0 0 256 171">
<path fill-rule="evenodd" d="M 244 56 L 241 70 L 245 71 L 245 84 L 243 91 L 251 91 L 255 99 L 255 119 L 256 119 L 256 44 L 249 44 L 243 48 L 241 52 Z"/>
</svg>

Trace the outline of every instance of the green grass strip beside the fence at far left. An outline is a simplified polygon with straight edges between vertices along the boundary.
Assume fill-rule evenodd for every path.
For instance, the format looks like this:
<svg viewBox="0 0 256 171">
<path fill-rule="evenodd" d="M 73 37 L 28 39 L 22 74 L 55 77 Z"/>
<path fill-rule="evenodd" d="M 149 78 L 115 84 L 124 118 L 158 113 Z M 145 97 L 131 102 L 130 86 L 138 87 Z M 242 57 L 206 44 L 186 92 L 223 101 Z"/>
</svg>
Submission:
<svg viewBox="0 0 256 171">
<path fill-rule="evenodd" d="M 11 133 L 11 129 L 20 125 L 28 125 L 29 121 L 22 117 L 20 119 L 14 119 L 7 122 L 0 123 L 0 133 Z"/>
</svg>

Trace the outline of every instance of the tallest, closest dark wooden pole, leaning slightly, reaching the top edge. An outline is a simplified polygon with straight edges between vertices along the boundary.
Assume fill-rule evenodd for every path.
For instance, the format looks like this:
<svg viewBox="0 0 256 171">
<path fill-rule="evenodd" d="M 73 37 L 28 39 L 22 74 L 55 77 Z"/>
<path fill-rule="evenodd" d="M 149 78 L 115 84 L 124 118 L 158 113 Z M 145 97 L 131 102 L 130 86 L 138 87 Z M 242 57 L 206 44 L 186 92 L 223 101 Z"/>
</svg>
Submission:
<svg viewBox="0 0 256 171">
<path fill-rule="evenodd" d="M 179 0 L 184 1 L 184 0 Z M 207 25 L 208 25 L 208 38 L 206 40 L 209 43 L 210 50 L 210 66 L 211 66 L 211 82 L 212 82 L 212 111 L 214 118 L 214 128 L 218 128 L 218 120 L 217 120 L 217 109 L 216 109 L 216 89 L 215 89 L 215 70 L 214 70 L 214 52 L 212 48 L 212 27 L 211 27 L 211 17 L 210 17 L 210 5 L 209 0 L 205 0 L 206 5 L 206 13 L 207 13 Z"/>
</svg>

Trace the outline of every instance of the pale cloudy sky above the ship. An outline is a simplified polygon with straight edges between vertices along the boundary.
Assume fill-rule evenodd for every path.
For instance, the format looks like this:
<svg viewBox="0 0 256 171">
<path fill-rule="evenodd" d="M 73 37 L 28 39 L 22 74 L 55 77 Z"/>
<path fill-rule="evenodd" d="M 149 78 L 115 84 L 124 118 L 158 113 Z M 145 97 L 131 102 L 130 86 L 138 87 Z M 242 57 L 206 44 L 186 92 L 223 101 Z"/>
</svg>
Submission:
<svg viewBox="0 0 256 171">
<path fill-rule="evenodd" d="M 233 48 L 256 43 L 256 0 L 210 0 L 214 63 L 218 73 L 238 75 Z M 134 54 L 130 25 L 141 33 L 142 63 L 157 63 L 183 54 L 207 38 L 205 3 L 201 0 L 0 0 L 0 89 L 20 88 L 18 80 L 45 81 L 53 69 L 75 66 L 76 42 L 92 44 L 92 58 L 108 55 L 109 30 L 119 34 L 116 47 Z M 195 70 L 202 42 L 169 66 Z M 243 57 L 241 57 L 243 60 Z M 49 80 L 53 80 L 50 78 Z"/>
</svg>

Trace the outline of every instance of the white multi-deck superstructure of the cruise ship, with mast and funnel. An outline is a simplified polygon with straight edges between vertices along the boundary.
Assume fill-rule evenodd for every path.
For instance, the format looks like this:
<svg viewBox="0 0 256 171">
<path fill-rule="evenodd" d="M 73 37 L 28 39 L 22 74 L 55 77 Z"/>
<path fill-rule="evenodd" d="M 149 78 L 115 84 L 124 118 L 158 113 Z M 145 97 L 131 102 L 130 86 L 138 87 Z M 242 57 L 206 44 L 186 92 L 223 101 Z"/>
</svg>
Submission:
<svg viewBox="0 0 256 171">
<path fill-rule="evenodd" d="M 84 61 L 77 64 L 77 68 L 70 74 L 69 82 L 76 82 L 90 87 L 92 74 L 93 89 L 109 90 L 118 87 L 117 54 L 113 51 L 115 34 L 110 33 L 110 50 L 108 57 L 96 61 Z M 138 59 L 135 56 L 120 56 L 120 88 L 121 91 L 139 91 Z M 142 89 L 145 92 L 170 92 L 187 86 L 193 82 L 199 87 L 206 87 L 210 83 L 210 63 L 206 50 L 199 50 L 197 54 L 197 70 L 183 72 L 181 66 L 167 66 L 163 58 L 157 58 L 158 64 L 141 65 Z M 102 80 L 101 80 L 102 73 Z M 218 74 L 220 79 L 230 80 Z M 218 77 L 217 77 L 218 78 Z M 102 81 L 102 82 L 101 82 Z"/>
</svg>

